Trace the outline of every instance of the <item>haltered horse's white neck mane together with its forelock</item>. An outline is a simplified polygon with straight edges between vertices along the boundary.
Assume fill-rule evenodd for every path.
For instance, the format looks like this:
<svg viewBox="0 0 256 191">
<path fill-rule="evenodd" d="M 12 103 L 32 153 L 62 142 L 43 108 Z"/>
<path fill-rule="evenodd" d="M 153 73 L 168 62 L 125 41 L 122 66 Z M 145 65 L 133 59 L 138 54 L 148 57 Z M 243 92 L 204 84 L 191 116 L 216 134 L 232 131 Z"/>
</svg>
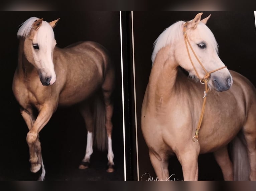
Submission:
<svg viewBox="0 0 256 191">
<path fill-rule="evenodd" d="M 156 54 L 158 53 L 158 51 L 169 45 L 172 43 L 175 43 L 177 41 L 180 40 L 180 38 L 183 38 L 183 28 L 182 28 L 182 24 L 184 23 L 184 21 L 178 21 L 174 24 L 172 24 L 171 26 L 169 26 L 168 28 L 166 28 L 160 35 L 159 37 L 155 40 L 154 44 L 153 44 L 153 53 L 151 56 L 151 60 L 152 60 L 152 66 L 154 64 L 155 61 L 155 57 Z M 218 43 L 212 33 L 212 31 L 203 23 L 199 23 L 199 25 L 201 27 L 204 28 L 204 32 L 207 33 L 207 38 L 209 38 L 209 42 L 211 42 L 210 44 L 212 46 L 214 46 L 215 50 L 218 53 Z"/>
</svg>

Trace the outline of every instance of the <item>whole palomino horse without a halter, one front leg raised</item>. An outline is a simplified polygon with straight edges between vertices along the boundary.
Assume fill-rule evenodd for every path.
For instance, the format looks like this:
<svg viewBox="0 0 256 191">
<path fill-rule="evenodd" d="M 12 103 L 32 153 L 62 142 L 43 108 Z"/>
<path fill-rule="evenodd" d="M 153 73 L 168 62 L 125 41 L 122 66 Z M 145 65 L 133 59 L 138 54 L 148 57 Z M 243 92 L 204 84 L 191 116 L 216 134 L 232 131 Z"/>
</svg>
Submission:
<svg viewBox="0 0 256 191">
<path fill-rule="evenodd" d="M 17 33 L 20 40 L 18 66 L 12 89 L 29 129 L 26 140 L 30 170 L 37 172 L 42 168 L 39 180 L 44 179 L 38 133 L 57 106 L 80 103 L 88 133 L 86 154 L 79 168 L 88 168 L 90 164 L 94 135 L 98 148 L 108 147 L 107 171 L 113 172 L 111 94 L 114 66 L 107 50 L 96 42 L 80 42 L 64 49 L 56 47 L 52 28 L 57 22 L 58 19 L 48 23 L 31 17 Z"/>
</svg>

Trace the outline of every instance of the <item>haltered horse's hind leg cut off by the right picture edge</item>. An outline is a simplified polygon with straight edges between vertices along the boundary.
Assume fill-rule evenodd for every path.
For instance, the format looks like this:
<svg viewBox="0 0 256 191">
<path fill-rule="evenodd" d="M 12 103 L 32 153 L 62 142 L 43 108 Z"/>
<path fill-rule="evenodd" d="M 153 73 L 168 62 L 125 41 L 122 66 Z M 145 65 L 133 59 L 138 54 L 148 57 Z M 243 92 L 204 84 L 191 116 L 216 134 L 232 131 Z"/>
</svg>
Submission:
<svg viewBox="0 0 256 191">
<path fill-rule="evenodd" d="M 252 104 L 243 127 L 250 162 L 250 180 L 256 180 L 256 103 Z"/>
</svg>

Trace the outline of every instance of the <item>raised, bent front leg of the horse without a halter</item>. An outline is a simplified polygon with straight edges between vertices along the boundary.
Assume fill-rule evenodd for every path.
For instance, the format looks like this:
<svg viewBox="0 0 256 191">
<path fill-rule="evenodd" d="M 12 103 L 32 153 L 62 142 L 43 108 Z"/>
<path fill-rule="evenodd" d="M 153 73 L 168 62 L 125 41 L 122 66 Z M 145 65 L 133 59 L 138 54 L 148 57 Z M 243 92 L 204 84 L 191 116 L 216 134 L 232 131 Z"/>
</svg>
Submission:
<svg viewBox="0 0 256 191">
<path fill-rule="evenodd" d="M 30 163 L 31 163 L 31 172 L 37 172 L 41 168 L 42 159 L 38 160 L 37 152 L 41 153 L 41 146 L 39 142 L 38 133 L 44 127 L 44 125 L 49 121 L 53 114 L 54 108 L 53 104 L 44 104 L 39 108 L 39 114 L 32 126 L 32 128 L 27 133 L 27 144 L 29 147 Z M 38 143 L 38 142 L 39 143 Z M 38 148 L 40 147 L 40 150 Z M 41 157 L 41 156 L 39 156 Z"/>
</svg>

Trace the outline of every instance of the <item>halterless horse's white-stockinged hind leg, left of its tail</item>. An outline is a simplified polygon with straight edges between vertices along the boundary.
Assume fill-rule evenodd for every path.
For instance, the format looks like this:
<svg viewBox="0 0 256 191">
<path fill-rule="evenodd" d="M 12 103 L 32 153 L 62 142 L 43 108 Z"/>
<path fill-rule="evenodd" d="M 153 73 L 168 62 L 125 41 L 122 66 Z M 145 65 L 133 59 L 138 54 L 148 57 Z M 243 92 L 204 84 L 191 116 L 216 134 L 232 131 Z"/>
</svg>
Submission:
<svg viewBox="0 0 256 191">
<path fill-rule="evenodd" d="M 80 169 L 86 169 L 90 166 L 90 157 L 93 153 L 93 113 L 91 111 L 91 105 L 88 103 L 84 103 L 80 107 L 80 112 L 85 120 L 85 125 L 87 128 L 87 144 L 86 144 L 86 152 L 85 157 L 80 164 Z"/>
</svg>

